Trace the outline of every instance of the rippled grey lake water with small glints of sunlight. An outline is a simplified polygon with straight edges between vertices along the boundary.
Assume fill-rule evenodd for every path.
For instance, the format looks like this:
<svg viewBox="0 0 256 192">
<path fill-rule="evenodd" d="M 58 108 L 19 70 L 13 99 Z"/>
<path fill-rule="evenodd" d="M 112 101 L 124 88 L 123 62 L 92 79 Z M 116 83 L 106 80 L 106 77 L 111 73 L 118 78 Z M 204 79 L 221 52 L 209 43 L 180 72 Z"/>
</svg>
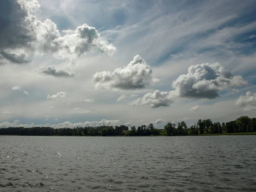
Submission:
<svg viewBox="0 0 256 192">
<path fill-rule="evenodd" d="M 1 192 L 256 191 L 256 136 L 0 136 Z"/>
</svg>

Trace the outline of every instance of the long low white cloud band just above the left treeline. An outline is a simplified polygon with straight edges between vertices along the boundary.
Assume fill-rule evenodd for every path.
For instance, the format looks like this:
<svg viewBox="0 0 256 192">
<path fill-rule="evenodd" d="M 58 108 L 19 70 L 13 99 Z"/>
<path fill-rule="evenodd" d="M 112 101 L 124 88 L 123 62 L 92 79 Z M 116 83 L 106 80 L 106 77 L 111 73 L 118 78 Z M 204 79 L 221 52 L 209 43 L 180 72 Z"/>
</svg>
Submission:
<svg viewBox="0 0 256 192">
<path fill-rule="evenodd" d="M 20 123 L 20 120 L 15 120 L 13 122 L 2 122 L 0 123 L 0 128 L 8 128 L 8 127 L 24 127 L 24 128 L 30 128 L 30 127 L 52 127 L 52 128 L 74 128 L 74 127 L 87 127 L 87 126 L 102 126 L 102 125 L 120 125 L 119 120 L 106 120 L 103 119 L 101 121 L 86 121 L 86 122 L 77 122 L 72 123 L 69 121 L 59 123 L 59 124 L 38 124 L 34 125 L 32 124 L 22 124 Z"/>
</svg>

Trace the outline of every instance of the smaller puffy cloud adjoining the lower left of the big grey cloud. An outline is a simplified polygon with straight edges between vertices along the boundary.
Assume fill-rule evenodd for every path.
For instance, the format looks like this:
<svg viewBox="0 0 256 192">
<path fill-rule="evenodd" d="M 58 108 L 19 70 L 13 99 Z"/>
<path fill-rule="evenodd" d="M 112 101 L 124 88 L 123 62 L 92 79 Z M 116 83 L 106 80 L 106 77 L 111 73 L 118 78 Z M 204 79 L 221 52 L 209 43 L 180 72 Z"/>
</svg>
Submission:
<svg viewBox="0 0 256 192">
<path fill-rule="evenodd" d="M 151 108 L 167 107 L 173 102 L 172 92 L 156 90 L 154 93 L 147 93 L 142 98 L 133 101 L 134 106 L 151 105 Z"/>
</svg>

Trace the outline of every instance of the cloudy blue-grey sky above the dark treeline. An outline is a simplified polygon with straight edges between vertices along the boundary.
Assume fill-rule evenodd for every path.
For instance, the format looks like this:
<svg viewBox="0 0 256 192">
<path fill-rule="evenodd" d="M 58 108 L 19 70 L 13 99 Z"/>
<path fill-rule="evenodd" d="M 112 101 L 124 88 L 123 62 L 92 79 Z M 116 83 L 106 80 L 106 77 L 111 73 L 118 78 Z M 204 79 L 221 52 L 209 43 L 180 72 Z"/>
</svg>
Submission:
<svg viewBox="0 0 256 192">
<path fill-rule="evenodd" d="M 0 128 L 256 117 L 255 0 L 9 0 Z"/>
</svg>

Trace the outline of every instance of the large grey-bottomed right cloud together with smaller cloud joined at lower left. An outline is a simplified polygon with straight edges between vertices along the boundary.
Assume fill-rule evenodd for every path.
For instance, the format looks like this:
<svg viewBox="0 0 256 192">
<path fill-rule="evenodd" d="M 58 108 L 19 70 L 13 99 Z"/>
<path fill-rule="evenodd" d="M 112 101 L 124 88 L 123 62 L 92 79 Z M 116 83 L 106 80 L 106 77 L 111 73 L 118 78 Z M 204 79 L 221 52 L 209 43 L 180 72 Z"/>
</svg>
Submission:
<svg viewBox="0 0 256 192">
<path fill-rule="evenodd" d="M 169 92 L 147 93 L 133 102 L 133 105 L 151 105 L 151 108 L 169 106 L 173 99 L 215 99 L 223 90 L 235 90 L 236 87 L 246 86 L 241 76 L 234 76 L 221 64 L 192 65 L 187 74 L 180 75 L 172 82 L 175 89 Z"/>
</svg>

